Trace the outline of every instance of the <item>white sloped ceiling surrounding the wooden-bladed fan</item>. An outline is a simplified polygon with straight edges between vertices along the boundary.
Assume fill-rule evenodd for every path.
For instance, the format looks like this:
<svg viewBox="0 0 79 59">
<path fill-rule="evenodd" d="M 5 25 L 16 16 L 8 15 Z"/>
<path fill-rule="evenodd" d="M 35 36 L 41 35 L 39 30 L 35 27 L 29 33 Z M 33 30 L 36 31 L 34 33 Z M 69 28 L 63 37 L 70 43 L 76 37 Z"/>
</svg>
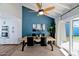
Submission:
<svg viewBox="0 0 79 59">
<path fill-rule="evenodd" d="M 23 6 L 30 8 L 34 11 L 38 11 L 38 8 L 35 3 L 23 3 Z M 53 5 L 55 9 L 50 11 L 47 16 L 57 18 L 67 11 L 71 10 L 75 6 L 79 5 L 79 3 L 43 3 L 42 8 L 46 8 L 50 5 Z"/>
</svg>

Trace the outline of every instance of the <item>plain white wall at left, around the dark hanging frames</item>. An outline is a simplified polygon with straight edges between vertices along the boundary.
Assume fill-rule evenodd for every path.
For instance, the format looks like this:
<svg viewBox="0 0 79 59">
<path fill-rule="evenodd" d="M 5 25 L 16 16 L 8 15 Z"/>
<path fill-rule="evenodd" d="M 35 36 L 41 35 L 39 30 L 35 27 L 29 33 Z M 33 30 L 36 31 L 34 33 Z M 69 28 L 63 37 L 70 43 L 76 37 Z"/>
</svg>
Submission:
<svg viewBox="0 0 79 59">
<path fill-rule="evenodd" d="M 1 37 L 1 28 L 9 26 L 9 38 Z M 14 32 L 12 32 L 14 27 Z M 20 4 L 0 4 L 0 44 L 19 44 L 22 37 L 22 7 Z"/>
</svg>

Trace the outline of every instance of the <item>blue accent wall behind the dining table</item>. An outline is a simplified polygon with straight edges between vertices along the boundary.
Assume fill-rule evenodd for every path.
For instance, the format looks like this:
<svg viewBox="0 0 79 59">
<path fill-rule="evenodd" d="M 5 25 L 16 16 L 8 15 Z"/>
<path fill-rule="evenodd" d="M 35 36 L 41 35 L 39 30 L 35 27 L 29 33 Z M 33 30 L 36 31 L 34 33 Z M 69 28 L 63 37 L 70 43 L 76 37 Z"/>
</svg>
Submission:
<svg viewBox="0 0 79 59">
<path fill-rule="evenodd" d="M 32 11 L 33 10 L 29 8 L 22 7 L 22 36 L 24 37 L 32 35 L 33 24 L 45 24 L 46 30 L 42 31 L 42 33 L 48 35 L 49 33 L 47 31 L 47 27 L 51 23 L 54 23 L 54 19 L 45 15 L 37 16 L 37 13 Z"/>
</svg>

